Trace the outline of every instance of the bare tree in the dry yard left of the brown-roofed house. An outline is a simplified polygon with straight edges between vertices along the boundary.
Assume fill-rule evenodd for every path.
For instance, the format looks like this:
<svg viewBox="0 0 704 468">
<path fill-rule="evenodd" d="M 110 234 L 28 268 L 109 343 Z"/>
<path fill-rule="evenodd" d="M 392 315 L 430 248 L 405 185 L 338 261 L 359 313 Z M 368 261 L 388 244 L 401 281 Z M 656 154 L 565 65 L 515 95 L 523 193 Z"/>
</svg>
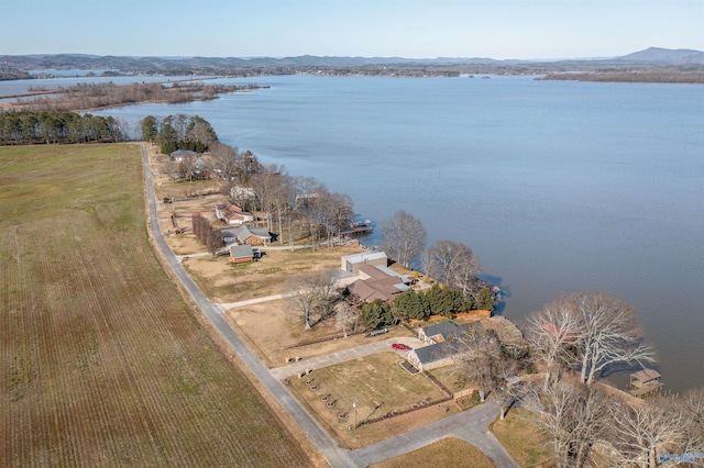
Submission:
<svg viewBox="0 0 704 468">
<path fill-rule="evenodd" d="M 293 312 L 301 316 L 306 330 L 310 330 L 332 312 L 338 297 L 334 271 L 316 271 L 293 278 L 286 282 L 284 291 L 284 296 L 293 305 Z M 315 323 L 314 315 L 318 316 Z"/>
</svg>

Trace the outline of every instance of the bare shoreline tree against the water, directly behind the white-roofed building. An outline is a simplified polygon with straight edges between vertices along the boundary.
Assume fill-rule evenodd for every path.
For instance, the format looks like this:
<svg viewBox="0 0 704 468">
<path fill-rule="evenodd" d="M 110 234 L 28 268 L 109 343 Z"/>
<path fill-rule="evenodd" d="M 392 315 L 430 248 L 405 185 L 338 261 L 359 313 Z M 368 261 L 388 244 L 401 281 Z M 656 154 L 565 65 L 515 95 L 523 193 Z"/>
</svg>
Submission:
<svg viewBox="0 0 704 468">
<path fill-rule="evenodd" d="M 407 268 L 426 247 L 428 233 L 422 222 L 404 210 L 398 210 L 391 219 L 384 220 L 381 230 L 386 254 Z"/>
</svg>

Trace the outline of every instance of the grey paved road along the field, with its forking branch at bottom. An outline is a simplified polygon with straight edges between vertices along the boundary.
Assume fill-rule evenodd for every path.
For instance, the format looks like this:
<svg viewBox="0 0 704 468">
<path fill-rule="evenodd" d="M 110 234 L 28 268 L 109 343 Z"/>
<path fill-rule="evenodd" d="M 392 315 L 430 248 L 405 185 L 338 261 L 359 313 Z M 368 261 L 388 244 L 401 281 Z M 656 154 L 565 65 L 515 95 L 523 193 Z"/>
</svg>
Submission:
<svg viewBox="0 0 704 468">
<path fill-rule="evenodd" d="M 369 464 L 384 460 L 394 456 L 403 455 L 428 444 L 432 444 L 441 438 L 454 436 L 474 444 L 486 456 L 488 456 L 497 467 L 518 467 L 510 458 L 504 447 L 488 433 L 487 426 L 498 414 L 498 405 L 488 402 L 476 406 L 470 411 L 462 412 L 451 417 L 419 427 L 414 431 L 397 435 L 378 444 L 364 447 L 359 450 L 346 450 L 340 448 L 336 442 L 322 430 L 316 420 L 300 405 L 300 403 L 286 390 L 284 385 L 275 377 L 275 370 L 266 368 L 258 358 L 244 345 L 226 321 L 222 310 L 211 302 L 196 286 L 188 272 L 184 269 L 179 259 L 174 255 L 164 234 L 158 226 L 156 213 L 156 197 L 146 146 L 142 146 L 142 158 L 144 163 L 145 188 L 148 202 L 150 231 L 156 245 L 158 246 L 166 263 L 178 278 L 184 289 L 189 293 L 204 315 L 212 323 L 215 328 L 226 339 L 228 345 L 254 372 L 261 383 L 266 387 L 272 397 L 278 401 L 284 410 L 296 421 L 301 431 L 308 435 L 320 453 L 333 467 L 364 467 Z M 388 344 L 382 342 L 388 349 Z M 340 353 L 336 353 L 340 355 Z M 300 363 L 299 363 L 300 364 Z M 310 366 L 310 359 L 308 366 Z M 284 368 L 286 369 L 286 367 Z"/>
</svg>

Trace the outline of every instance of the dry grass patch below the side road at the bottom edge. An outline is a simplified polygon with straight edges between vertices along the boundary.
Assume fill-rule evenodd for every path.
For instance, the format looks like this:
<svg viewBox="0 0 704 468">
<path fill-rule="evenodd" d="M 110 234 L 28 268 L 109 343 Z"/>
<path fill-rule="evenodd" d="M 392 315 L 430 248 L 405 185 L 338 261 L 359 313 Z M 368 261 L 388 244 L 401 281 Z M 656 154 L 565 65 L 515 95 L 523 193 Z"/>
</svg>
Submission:
<svg viewBox="0 0 704 468">
<path fill-rule="evenodd" d="M 492 460 L 472 444 L 448 437 L 400 457 L 389 458 L 373 468 L 493 468 Z"/>
</svg>

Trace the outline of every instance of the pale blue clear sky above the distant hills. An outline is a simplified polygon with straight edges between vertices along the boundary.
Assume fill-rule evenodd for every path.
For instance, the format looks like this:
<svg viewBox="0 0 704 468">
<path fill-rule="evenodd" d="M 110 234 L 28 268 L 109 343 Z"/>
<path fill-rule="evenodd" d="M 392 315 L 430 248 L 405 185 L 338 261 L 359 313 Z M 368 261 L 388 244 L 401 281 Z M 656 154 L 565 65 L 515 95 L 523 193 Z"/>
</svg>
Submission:
<svg viewBox="0 0 704 468">
<path fill-rule="evenodd" d="M 704 51 L 704 0 L 0 0 L 0 55 L 569 58 Z"/>
</svg>

